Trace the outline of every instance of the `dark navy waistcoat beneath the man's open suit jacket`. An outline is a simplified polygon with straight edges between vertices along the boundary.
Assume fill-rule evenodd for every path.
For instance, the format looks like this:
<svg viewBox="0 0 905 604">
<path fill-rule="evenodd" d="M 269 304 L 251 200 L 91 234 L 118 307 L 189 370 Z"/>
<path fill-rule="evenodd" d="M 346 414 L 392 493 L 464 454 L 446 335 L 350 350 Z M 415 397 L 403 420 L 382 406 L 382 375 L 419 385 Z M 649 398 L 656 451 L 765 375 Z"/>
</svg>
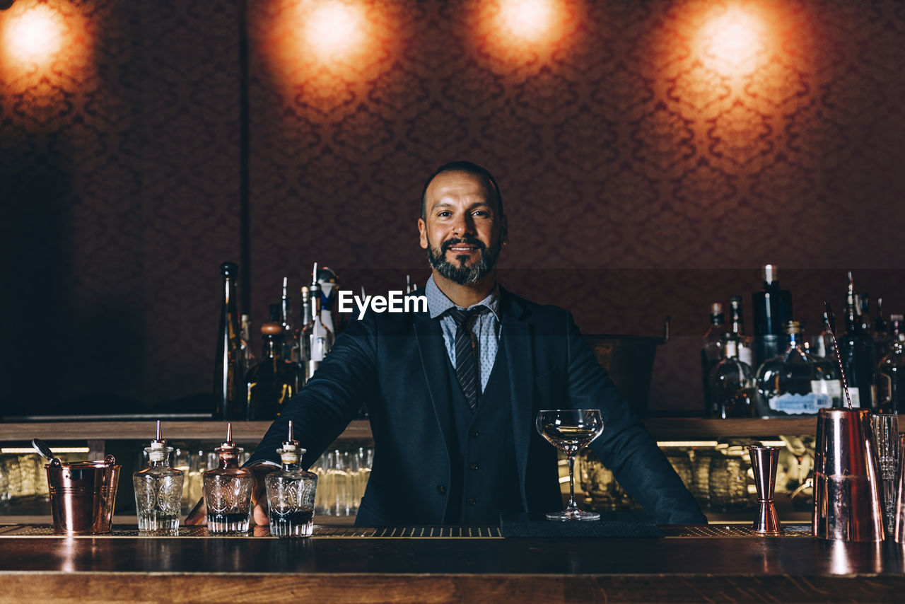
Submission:
<svg viewBox="0 0 905 604">
<path fill-rule="evenodd" d="M 445 523 L 497 525 L 500 512 L 522 511 L 505 355 L 505 342 L 500 340 L 487 388 L 474 411 L 447 362 L 452 385 L 448 443 L 452 480 Z"/>
</svg>

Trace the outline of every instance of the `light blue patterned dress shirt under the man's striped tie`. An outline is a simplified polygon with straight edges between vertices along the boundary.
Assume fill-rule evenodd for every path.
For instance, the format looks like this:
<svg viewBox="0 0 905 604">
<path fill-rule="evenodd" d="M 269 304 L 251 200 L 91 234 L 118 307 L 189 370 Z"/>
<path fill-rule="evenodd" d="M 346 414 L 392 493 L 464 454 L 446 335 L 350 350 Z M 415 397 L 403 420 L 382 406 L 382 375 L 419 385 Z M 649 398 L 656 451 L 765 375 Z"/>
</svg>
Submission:
<svg viewBox="0 0 905 604">
<path fill-rule="evenodd" d="M 433 275 L 424 286 L 424 295 L 427 297 L 427 312 L 431 319 L 440 317 L 440 328 L 443 330 L 443 344 L 446 346 L 446 354 L 449 355 L 452 367 L 455 368 L 455 321 L 449 314 L 443 314 L 451 308 L 462 309 L 456 306 L 446 294 L 440 291 L 436 283 L 433 283 Z M 493 363 L 497 360 L 497 351 L 500 350 L 500 317 L 497 312 L 500 309 L 500 286 L 497 285 L 486 298 L 469 306 L 474 308 L 484 307 L 486 312 L 479 312 L 468 321 L 472 331 L 472 340 L 475 342 L 474 354 L 478 360 L 478 379 L 481 380 L 481 392 L 487 388 L 487 380 L 491 378 Z"/>
</svg>

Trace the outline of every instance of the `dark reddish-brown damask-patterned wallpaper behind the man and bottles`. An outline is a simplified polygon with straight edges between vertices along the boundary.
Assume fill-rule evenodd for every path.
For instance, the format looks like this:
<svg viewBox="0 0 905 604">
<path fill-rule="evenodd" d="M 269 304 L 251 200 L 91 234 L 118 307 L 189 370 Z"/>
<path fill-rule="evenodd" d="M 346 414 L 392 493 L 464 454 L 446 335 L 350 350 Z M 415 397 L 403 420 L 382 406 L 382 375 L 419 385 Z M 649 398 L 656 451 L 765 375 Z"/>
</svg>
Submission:
<svg viewBox="0 0 905 604">
<path fill-rule="evenodd" d="M 812 327 L 848 268 L 905 310 L 902 3 L 550 0 L 529 42 L 501 1 L 349 0 L 339 24 L 358 27 L 325 54 L 326 3 L 248 3 L 256 327 L 315 261 L 355 290 L 424 283 L 418 195 L 451 158 L 500 181 L 504 285 L 586 332 L 672 316 L 652 407 L 701 407 L 709 304 L 749 302 L 762 264 Z M 27 5 L 62 14 L 73 42 L 49 69 L 0 63 L 19 378 L 0 398 L 203 392 L 217 267 L 242 245 L 240 5 L 18 0 L 0 27 Z"/>
</svg>

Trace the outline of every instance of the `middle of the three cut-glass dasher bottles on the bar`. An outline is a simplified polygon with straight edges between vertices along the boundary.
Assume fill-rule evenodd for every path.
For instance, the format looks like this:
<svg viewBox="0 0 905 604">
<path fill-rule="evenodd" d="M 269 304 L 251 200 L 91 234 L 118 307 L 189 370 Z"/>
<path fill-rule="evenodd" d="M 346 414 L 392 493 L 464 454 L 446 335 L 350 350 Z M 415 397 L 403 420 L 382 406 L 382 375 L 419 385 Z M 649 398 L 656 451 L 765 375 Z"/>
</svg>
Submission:
<svg viewBox="0 0 905 604">
<path fill-rule="evenodd" d="M 226 440 L 214 451 L 219 467 L 205 472 L 205 505 L 207 531 L 211 534 L 243 534 L 248 532 L 252 516 L 252 471 L 239 467 L 241 446 L 233 443 L 233 425 L 226 425 Z"/>
</svg>

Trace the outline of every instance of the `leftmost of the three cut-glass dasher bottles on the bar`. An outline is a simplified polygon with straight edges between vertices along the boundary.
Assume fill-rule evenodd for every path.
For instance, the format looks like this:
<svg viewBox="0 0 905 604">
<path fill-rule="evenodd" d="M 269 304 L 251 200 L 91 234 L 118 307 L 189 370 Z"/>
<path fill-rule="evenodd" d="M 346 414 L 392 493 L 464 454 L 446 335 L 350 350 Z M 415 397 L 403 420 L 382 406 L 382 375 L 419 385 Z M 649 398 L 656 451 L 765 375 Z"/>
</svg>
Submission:
<svg viewBox="0 0 905 604">
<path fill-rule="evenodd" d="M 179 534 L 185 475 L 181 470 L 170 467 L 169 455 L 172 452 L 173 447 L 167 446 L 167 441 L 160 437 L 158 419 L 157 437 L 151 441 L 151 446 L 145 448 L 148 467 L 132 475 L 139 534 Z"/>
</svg>

